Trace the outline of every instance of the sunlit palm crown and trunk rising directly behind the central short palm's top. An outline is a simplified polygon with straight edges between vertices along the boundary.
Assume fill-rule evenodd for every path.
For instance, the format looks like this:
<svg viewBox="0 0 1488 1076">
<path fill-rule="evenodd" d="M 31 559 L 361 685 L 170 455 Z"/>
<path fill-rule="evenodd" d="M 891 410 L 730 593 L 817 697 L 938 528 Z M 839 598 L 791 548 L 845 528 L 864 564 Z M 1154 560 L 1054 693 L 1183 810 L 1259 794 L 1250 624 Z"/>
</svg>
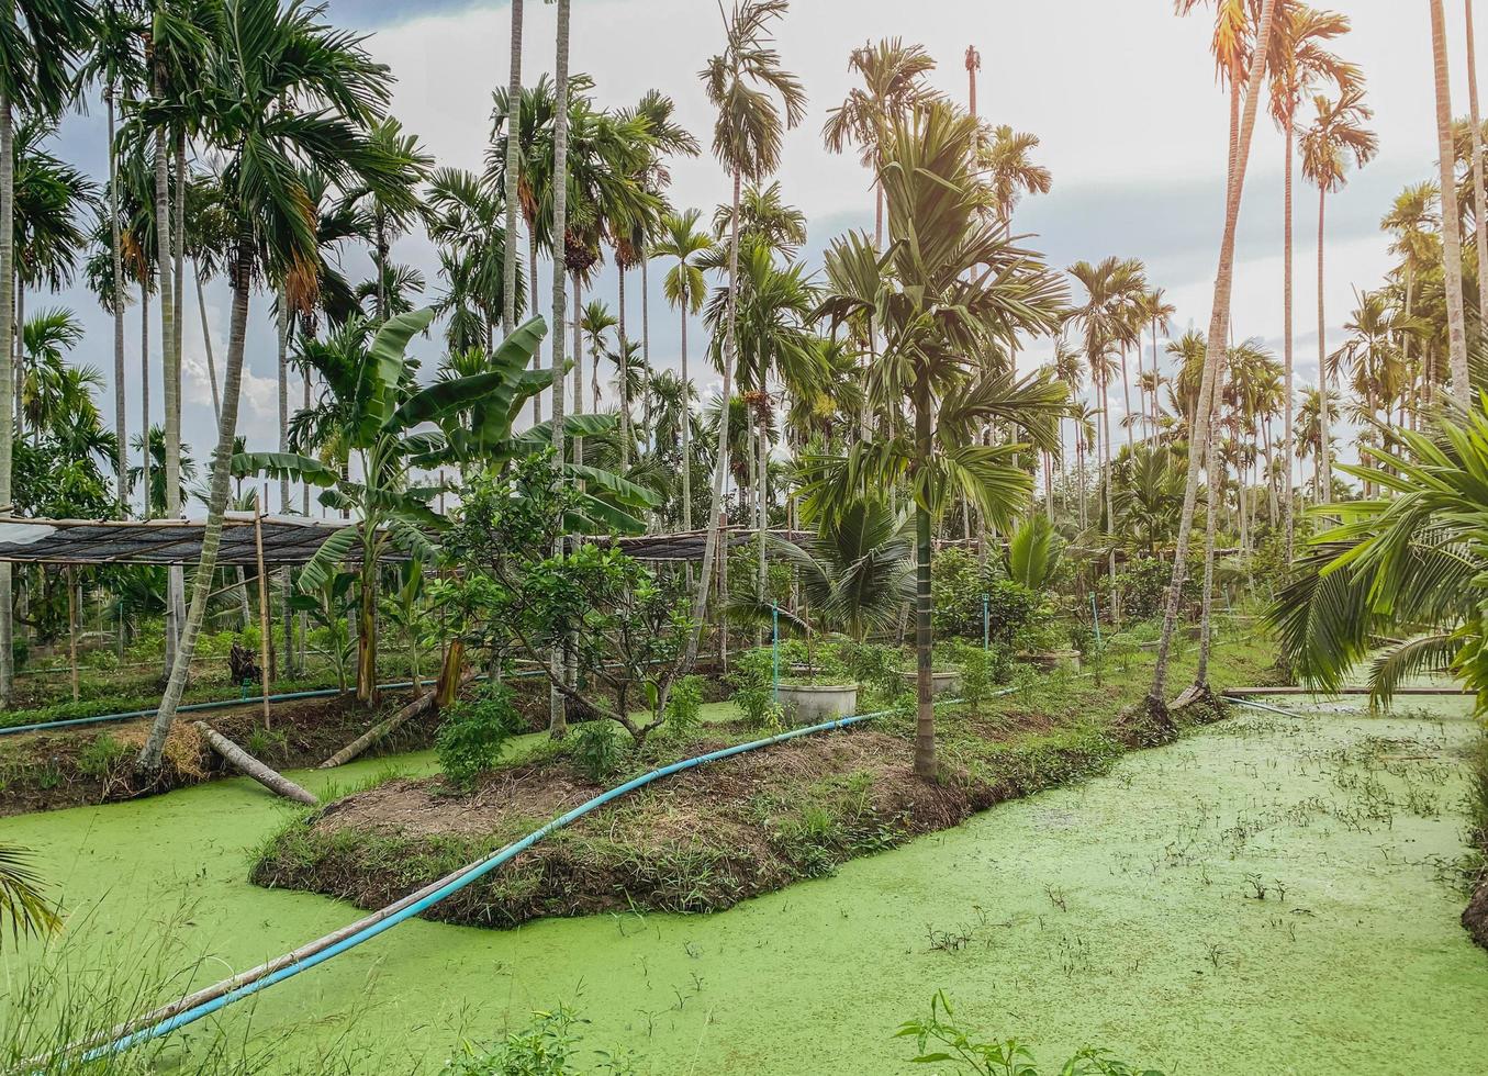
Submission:
<svg viewBox="0 0 1488 1076">
<path fill-rule="evenodd" d="M 853 86 L 842 104 L 827 110 L 821 125 L 821 141 L 827 152 L 842 153 L 857 146 L 863 167 L 878 174 L 879 119 L 902 115 L 917 103 L 939 97 L 926 76 L 934 70 L 934 60 L 923 45 L 905 45 L 903 39 L 885 37 L 876 46 L 863 43 L 853 49 L 847 70 L 863 77 Z M 873 186 L 873 247 L 884 246 L 884 192 Z"/>
</svg>

